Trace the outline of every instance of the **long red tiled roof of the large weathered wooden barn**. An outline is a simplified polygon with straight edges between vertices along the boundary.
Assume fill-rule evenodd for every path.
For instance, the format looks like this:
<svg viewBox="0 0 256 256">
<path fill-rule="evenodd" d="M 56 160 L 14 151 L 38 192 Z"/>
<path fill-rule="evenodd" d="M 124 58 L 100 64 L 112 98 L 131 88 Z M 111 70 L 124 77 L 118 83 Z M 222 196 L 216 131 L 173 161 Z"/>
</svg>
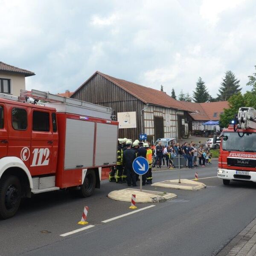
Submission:
<svg viewBox="0 0 256 256">
<path fill-rule="evenodd" d="M 152 105 L 161 106 L 164 108 L 173 108 L 173 109 L 190 111 L 189 108 L 183 105 L 183 102 L 173 99 L 171 96 L 169 96 L 164 92 L 161 92 L 160 90 L 155 90 L 153 88 L 145 87 L 140 84 L 135 84 L 123 79 L 117 79 L 113 76 L 108 76 L 99 71 L 96 71 L 89 79 L 87 79 L 87 81 L 89 81 L 97 73 L 105 77 L 105 79 L 108 79 L 109 81 L 111 81 L 113 84 L 116 84 L 118 87 L 121 87 L 123 90 L 130 93 L 137 99 L 140 99 L 145 104 L 148 103 Z M 84 86 L 84 84 L 86 84 L 87 81 L 85 81 L 74 93 L 76 93 L 82 86 Z"/>
</svg>

